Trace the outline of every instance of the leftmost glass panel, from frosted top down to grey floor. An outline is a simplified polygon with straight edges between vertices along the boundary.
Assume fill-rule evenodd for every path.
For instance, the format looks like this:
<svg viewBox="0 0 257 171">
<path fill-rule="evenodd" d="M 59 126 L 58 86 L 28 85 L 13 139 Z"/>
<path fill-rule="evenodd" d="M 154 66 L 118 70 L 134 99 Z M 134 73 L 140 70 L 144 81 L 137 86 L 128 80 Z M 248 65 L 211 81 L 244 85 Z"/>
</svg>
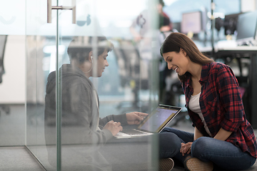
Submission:
<svg viewBox="0 0 257 171">
<path fill-rule="evenodd" d="M 0 146 L 25 143 L 24 6 L 0 1 Z"/>
</svg>

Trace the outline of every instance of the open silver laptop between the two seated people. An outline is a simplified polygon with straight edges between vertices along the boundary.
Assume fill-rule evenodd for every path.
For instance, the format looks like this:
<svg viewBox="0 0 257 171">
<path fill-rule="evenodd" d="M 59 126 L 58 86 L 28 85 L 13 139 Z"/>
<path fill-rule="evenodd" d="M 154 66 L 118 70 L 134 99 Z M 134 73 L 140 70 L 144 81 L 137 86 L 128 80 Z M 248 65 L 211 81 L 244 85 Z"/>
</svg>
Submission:
<svg viewBox="0 0 257 171">
<path fill-rule="evenodd" d="M 135 129 L 124 129 L 115 138 L 136 138 L 160 133 L 181 111 L 181 107 L 158 105 Z"/>
</svg>

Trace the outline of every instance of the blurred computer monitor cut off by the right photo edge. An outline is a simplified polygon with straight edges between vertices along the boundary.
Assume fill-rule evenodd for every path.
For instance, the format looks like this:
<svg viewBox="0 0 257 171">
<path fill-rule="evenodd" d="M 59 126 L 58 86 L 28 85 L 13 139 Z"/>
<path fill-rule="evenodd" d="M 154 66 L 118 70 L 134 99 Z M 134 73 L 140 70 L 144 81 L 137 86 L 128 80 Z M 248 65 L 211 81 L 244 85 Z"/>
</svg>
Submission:
<svg viewBox="0 0 257 171">
<path fill-rule="evenodd" d="M 238 45 L 256 45 L 257 10 L 240 14 L 236 25 Z"/>
</svg>

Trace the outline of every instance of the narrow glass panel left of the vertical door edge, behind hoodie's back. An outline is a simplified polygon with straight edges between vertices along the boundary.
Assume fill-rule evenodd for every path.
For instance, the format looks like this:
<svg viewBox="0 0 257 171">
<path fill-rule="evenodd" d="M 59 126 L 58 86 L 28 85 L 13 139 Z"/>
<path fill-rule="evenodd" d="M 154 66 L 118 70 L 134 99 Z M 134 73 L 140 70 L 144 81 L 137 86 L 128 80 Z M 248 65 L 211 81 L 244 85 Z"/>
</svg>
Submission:
<svg viewBox="0 0 257 171">
<path fill-rule="evenodd" d="M 56 170 L 56 114 L 44 115 L 47 76 L 56 67 L 56 10 L 48 24 L 46 5 L 45 0 L 26 0 L 26 146 L 46 170 Z"/>
</svg>

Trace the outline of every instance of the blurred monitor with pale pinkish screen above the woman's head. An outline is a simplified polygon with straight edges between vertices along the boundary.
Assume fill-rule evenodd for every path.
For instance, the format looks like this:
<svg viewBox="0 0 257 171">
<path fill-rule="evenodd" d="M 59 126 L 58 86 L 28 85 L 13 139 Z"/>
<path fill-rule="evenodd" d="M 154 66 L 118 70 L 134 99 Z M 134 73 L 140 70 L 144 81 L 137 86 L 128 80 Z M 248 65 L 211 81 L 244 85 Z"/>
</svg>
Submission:
<svg viewBox="0 0 257 171">
<path fill-rule="evenodd" d="M 203 30 L 202 12 L 194 11 L 182 14 L 181 33 L 200 33 Z"/>
</svg>

